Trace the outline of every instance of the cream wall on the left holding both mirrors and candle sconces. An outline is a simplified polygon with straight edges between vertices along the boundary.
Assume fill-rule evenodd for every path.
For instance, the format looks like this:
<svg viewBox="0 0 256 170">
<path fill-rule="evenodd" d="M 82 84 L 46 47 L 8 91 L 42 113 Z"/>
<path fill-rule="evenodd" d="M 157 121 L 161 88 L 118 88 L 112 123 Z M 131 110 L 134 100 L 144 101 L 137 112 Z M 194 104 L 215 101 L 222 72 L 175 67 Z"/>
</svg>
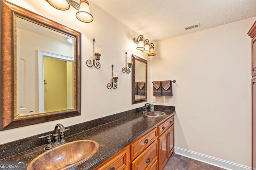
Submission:
<svg viewBox="0 0 256 170">
<path fill-rule="evenodd" d="M 52 8 L 44 0 L 9 1 L 82 33 L 82 115 L 1 131 L 0 144 L 52 131 L 56 123 L 61 123 L 64 126 L 74 125 L 145 104 L 132 105 L 132 74 L 122 72 L 122 67 L 125 66 L 125 52 L 127 52 L 127 56 L 134 54 L 148 60 L 148 70 L 150 70 L 149 58 L 136 50 L 136 45 L 132 41 L 134 37 L 138 37 L 136 33 L 92 2 L 90 2 L 90 11 L 94 20 L 92 23 L 83 23 L 76 18 L 77 10 L 72 7 L 67 11 L 60 11 Z M 96 44 L 102 46 L 99 69 L 86 66 L 86 61 L 93 59 L 93 38 L 95 38 Z M 107 88 L 112 76 L 112 64 L 114 64 L 114 70 L 119 70 L 116 90 Z M 148 73 L 148 84 L 149 79 L 150 73 Z M 148 88 L 149 93 L 150 89 Z M 148 101 L 149 98 L 150 95 L 148 95 Z"/>
</svg>

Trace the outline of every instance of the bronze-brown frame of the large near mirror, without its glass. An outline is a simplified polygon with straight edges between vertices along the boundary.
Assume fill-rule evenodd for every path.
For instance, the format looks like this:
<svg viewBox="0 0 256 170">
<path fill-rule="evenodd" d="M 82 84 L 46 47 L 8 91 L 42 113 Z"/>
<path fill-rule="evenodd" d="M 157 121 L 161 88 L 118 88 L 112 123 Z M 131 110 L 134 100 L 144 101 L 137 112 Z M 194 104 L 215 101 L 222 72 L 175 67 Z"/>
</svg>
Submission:
<svg viewBox="0 0 256 170">
<path fill-rule="evenodd" d="M 0 6 L 0 131 L 81 115 L 81 33 L 5 0 L 0 0 Z M 74 37 L 74 42 L 76 42 L 74 45 L 74 109 L 15 118 L 15 15 L 23 16 L 33 20 L 34 23 Z"/>
</svg>

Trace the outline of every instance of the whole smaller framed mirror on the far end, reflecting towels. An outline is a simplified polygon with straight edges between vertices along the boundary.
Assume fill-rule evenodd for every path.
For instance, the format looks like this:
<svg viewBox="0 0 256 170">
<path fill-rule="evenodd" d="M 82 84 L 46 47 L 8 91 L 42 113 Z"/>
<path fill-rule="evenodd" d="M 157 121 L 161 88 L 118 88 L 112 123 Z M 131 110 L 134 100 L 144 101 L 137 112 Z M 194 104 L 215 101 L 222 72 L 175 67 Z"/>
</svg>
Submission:
<svg viewBox="0 0 256 170">
<path fill-rule="evenodd" d="M 132 104 L 147 102 L 148 61 L 132 55 Z"/>
</svg>

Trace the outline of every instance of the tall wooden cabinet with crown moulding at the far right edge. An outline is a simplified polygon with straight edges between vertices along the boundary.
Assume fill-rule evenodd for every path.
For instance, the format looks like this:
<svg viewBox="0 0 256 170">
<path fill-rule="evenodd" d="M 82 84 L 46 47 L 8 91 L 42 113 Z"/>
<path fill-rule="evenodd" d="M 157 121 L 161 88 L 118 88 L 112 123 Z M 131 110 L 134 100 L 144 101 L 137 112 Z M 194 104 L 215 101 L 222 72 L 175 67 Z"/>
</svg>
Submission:
<svg viewBox="0 0 256 170">
<path fill-rule="evenodd" d="M 252 170 L 256 170 L 256 21 L 248 35 L 252 38 Z"/>
</svg>

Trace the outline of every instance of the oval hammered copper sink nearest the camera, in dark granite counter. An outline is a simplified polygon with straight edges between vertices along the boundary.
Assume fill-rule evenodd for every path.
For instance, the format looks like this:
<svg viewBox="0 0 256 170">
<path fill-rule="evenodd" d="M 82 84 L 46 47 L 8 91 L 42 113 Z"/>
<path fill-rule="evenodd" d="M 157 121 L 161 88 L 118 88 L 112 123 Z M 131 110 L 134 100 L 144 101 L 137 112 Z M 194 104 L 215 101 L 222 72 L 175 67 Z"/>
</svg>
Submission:
<svg viewBox="0 0 256 170">
<path fill-rule="evenodd" d="M 38 155 L 27 170 L 68 170 L 90 158 L 98 149 L 99 144 L 91 140 L 65 143 Z"/>
</svg>

